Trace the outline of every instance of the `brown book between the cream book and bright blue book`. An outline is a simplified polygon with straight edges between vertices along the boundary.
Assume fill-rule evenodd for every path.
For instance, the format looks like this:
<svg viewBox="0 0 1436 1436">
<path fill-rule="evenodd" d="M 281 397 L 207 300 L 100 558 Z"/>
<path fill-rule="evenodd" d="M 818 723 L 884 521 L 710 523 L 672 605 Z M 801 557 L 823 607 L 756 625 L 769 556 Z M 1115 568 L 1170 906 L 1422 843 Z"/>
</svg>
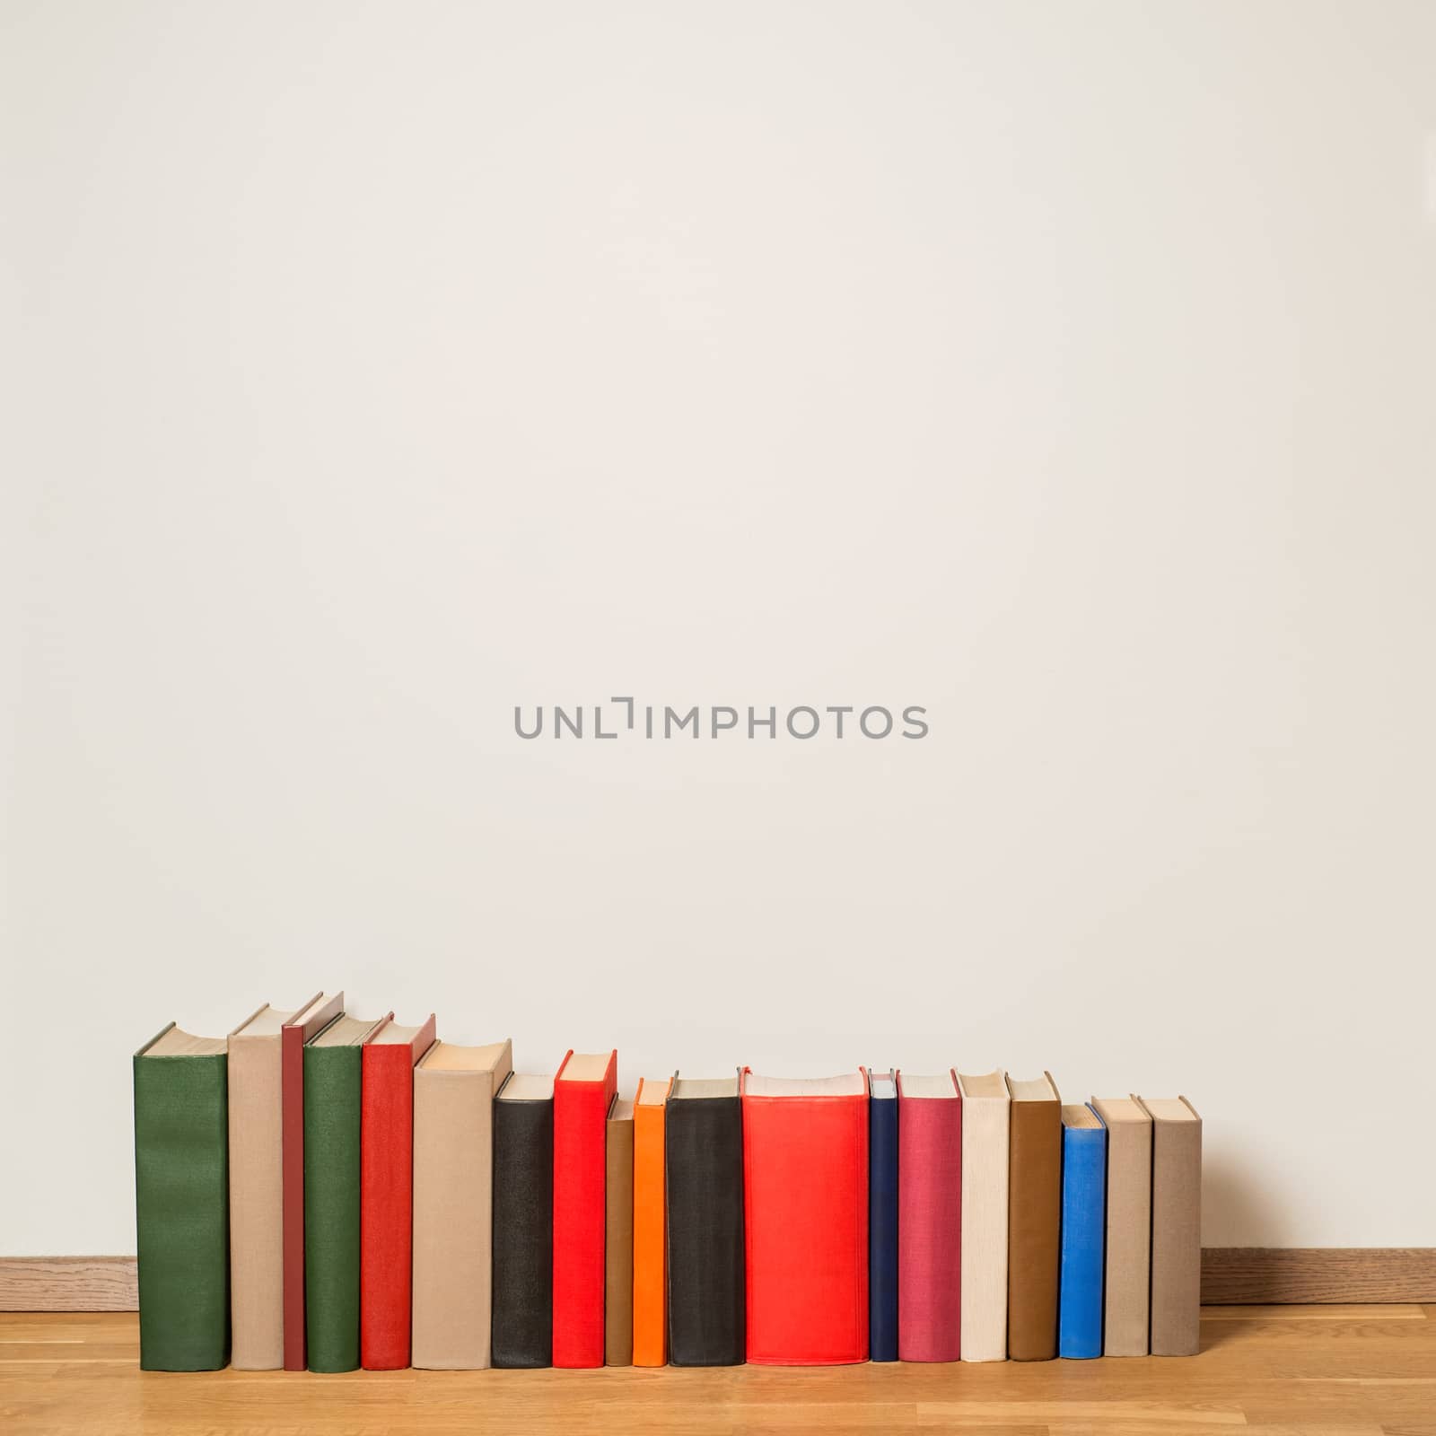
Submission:
<svg viewBox="0 0 1436 1436">
<path fill-rule="evenodd" d="M 1007 1354 L 1057 1356 L 1063 1223 L 1063 1106 L 1051 1074 L 1007 1080 L 1012 1097 L 1007 1188 Z"/>
</svg>

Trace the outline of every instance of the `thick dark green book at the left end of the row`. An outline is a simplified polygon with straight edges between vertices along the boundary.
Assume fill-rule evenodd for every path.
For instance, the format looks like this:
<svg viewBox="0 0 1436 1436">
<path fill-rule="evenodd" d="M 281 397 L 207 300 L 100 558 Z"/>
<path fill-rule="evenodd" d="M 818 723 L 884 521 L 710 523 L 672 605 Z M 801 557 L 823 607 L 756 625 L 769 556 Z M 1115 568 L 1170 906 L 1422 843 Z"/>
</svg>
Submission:
<svg viewBox="0 0 1436 1436">
<path fill-rule="evenodd" d="M 171 1022 L 134 1068 L 139 1364 L 214 1371 L 230 1360 L 225 1040 Z"/>
</svg>

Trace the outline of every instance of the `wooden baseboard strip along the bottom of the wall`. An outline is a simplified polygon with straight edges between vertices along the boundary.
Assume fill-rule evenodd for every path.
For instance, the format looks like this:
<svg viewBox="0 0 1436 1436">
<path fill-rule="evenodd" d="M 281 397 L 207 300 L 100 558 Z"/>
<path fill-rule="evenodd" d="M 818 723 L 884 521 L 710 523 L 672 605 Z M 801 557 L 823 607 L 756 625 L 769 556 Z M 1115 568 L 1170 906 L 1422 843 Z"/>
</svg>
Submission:
<svg viewBox="0 0 1436 1436">
<path fill-rule="evenodd" d="M 1436 1302 L 1436 1246 L 1208 1246 L 1209 1307 Z M 134 1311 L 134 1256 L 0 1256 L 0 1311 Z"/>
</svg>

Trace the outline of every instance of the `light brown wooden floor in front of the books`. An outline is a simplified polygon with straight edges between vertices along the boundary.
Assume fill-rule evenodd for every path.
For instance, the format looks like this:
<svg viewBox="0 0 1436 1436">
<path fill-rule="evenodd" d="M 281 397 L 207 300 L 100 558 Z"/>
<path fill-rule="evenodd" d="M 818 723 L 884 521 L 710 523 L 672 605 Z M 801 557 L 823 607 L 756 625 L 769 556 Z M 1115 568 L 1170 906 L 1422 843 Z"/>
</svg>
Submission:
<svg viewBox="0 0 1436 1436">
<path fill-rule="evenodd" d="M 136 1318 L 0 1315 L 0 1432 L 1436 1436 L 1436 1307 L 1209 1307 L 1202 1354 L 999 1366 L 312 1376 L 136 1366 Z"/>
</svg>

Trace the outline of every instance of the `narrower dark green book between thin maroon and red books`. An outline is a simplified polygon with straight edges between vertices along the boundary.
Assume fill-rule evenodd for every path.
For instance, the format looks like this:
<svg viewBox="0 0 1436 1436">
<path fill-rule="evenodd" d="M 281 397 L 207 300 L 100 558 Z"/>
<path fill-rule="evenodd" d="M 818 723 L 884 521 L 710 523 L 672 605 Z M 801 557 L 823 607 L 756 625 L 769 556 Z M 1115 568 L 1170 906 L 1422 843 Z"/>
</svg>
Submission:
<svg viewBox="0 0 1436 1436">
<path fill-rule="evenodd" d="M 336 1017 L 304 1045 L 304 1333 L 310 1371 L 359 1367 L 360 1058 L 378 1025 Z"/>
</svg>

